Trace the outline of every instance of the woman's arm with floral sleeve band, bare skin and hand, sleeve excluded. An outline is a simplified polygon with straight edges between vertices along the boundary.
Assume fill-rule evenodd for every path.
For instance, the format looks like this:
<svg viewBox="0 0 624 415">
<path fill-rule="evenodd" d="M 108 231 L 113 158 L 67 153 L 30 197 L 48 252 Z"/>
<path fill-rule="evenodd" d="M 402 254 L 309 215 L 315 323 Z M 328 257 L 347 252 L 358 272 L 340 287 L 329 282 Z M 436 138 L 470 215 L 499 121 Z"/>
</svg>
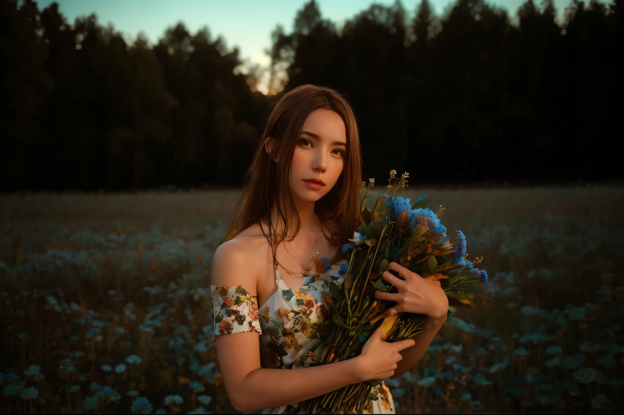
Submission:
<svg viewBox="0 0 624 415">
<path fill-rule="evenodd" d="M 256 295 L 253 254 L 227 242 L 213 258 L 212 285 L 241 285 Z M 257 268 L 256 268 L 257 269 Z M 217 355 L 225 389 L 238 411 L 251 411 L 305 401 L 349 384 L 392 376 L 407 339 L 388 343 L 375 332 L 358 357 L 302 369 L 263 369 L 257 332 L 217 335 Z"/>
</svg>

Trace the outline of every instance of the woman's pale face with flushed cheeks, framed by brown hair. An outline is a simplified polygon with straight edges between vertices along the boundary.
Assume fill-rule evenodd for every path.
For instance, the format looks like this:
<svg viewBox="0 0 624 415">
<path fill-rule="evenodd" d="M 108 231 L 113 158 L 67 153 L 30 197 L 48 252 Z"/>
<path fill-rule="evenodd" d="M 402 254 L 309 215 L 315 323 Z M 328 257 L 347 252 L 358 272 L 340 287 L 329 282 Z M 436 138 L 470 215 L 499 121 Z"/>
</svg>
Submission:
<svg viewBox="0 0 624 415">
<path fill-rule="evenodd" d="M 293 196 L 315 202 L 325 196 L 343 171 L 347 150 L 343 119 L 329 109 L 315 109 L 306 118 L 293 153 Z"/>
</svg>

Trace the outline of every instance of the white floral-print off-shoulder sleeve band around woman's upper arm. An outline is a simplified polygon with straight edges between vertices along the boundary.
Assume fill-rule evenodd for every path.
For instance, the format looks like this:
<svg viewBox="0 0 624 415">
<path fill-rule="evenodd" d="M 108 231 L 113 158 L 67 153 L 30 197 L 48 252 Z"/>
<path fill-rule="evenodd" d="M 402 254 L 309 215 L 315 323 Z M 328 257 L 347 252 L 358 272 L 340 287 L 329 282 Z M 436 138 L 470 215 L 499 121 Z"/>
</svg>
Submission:
<svg viewBox="0 0 624 415">
<path fill-rule="evenodd" d="M 262 332 L 258 299 L 242 286 L 210 286 L 215 309 L 215 334 Z"/>
</svg>

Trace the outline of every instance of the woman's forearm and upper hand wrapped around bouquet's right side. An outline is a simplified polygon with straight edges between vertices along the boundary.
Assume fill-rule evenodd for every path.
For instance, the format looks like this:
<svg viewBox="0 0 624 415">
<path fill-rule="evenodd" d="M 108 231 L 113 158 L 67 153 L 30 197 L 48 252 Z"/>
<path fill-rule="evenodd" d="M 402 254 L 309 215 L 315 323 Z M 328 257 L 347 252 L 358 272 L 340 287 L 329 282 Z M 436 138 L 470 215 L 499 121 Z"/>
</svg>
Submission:
<svg viewBox="0 0 624 415">
<path fill-rule="evenodd" d="M 389 270 L 399 272 L 405 280 L 395 277 L 388 272 Z M 427 351 L 431 341 L 446 321 L 449 300 L 442 288 L 435 282 L 422 279 L 416 272 L 409 271 L 396 262 L 388 264 L 388 271 L 385 271 L 382 276 L 386 281 L 394 284 L 398 292 L 393 294 L 377 291 L 375 297 L 397 302 L 396 306 L 392 307 L 396 312 L 413 312 L 427 316 L 424 330 L 412 337 L 416 344 L 401 352 L 403 360 L 399 362 L 392 376 L 399 377 L 409 371 Z"/>
</svg>

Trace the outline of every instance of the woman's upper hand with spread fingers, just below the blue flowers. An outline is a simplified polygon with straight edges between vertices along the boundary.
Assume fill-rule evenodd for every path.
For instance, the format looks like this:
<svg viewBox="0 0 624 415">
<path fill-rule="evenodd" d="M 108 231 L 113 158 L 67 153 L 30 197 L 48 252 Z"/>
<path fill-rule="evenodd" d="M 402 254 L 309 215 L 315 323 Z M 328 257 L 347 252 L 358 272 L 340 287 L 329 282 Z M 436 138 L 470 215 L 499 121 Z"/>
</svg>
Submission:
<svg viewBox="0 0 624 415">
<path fill-rule="evenodd" d="M 392 275 L 390 270 L 399 272 L 405 281 Z M 388 269 L 381 276 L 390 284 L 394 284 L 399 292 L 376 291 L 375 297 L 396 302 L 396 306 L 392 307 L 396 312 L 425 314 L 432 319 L 446 318 L 449 300 L 439 285 L 423 279 L 416 272 L 409 271 L 396 262 L 390 262 Z"/>
</svg>

